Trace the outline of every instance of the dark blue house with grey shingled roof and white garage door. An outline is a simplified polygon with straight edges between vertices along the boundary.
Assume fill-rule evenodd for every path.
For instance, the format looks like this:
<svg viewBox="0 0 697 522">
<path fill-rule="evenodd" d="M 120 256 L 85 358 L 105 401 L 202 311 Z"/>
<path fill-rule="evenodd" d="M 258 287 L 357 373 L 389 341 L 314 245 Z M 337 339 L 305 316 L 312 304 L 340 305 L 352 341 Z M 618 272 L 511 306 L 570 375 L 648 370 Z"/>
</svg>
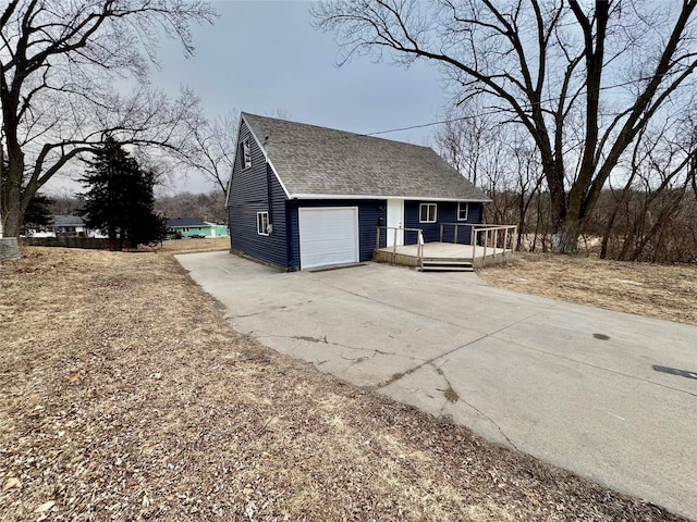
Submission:
<svg viewBox="0 0 697 522">
<path fill-rule="evenodd" d="M 486 195 L 432 149 L 242 113 L 228 191 L 231 251 L 281 270 L 372 259 L 480 223 Z M 400 228 L 401 227 L 401 228 Z M 404 229 L 402 229 L 404 228 Z M 463 227 L 457 243 L 468 244 Z"/>
</svg>

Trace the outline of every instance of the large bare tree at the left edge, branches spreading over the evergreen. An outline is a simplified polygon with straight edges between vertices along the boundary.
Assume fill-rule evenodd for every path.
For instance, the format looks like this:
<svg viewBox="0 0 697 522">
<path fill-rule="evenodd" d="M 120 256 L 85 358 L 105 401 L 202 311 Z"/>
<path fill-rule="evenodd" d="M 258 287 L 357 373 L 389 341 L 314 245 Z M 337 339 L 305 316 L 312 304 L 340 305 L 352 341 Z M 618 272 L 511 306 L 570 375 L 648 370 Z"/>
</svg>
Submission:
<svg viewBox="0 0 697 522">
<path fill-rule="evenodd" d="M 212 22 L 200 1 L 11 0 L 0 12 L 0 103 L 7 183 L 0 222 L 16 235 L 36 191 L 111 134 L 178 148 L 196 100 L 146 87 L 161 36 L 192 54 L 189 27 Z M 131 95 L 114 85 L 135 78 Z"/>
</svg>

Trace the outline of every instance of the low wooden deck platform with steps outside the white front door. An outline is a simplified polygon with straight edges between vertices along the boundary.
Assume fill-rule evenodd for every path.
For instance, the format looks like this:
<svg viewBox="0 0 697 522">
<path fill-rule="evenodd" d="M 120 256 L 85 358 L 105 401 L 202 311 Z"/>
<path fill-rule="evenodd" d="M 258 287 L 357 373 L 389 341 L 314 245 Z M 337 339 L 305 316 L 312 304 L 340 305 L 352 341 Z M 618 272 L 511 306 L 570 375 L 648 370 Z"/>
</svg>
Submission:
<svg viewBox="0 0 697 522">
<path fill-rule="evenodd" d="M 377 249 L 374 253 L 375 261 L 382 263 L 401 264 L 405 266 L 421 266 L 418 257 L 417 245 L 404 245 Z M 424 263 L 430 262 L 458 262 L 470 263 L 478 269 L 489 264 L 505 263 L 513 260 L 513 250 L 493 247 L 480 247 L 472 245 L 455 245 L 452 243 L 427 243 L 424 245 Z"/>
</svg>

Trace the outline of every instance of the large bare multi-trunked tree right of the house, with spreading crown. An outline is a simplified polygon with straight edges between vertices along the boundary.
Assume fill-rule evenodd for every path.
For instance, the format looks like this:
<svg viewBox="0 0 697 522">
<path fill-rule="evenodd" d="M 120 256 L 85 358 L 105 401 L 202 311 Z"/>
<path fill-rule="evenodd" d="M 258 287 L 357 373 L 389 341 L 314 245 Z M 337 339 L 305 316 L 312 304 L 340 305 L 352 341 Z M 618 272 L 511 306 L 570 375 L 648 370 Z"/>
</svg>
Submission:
<svg viewBox="0 0 697 522">
<path fill-rule="evenodd" d="M 405 65 L 432 61 L 458 101 L 481 98 L 502 122 L 522 125 L 549 189 L 554 250 L 573 253 L 627 148 L 694 86 L 696 5 L 344 0 L 313 13 L 337 34 L 341 63 L 386 51 Z"/>
</svg>

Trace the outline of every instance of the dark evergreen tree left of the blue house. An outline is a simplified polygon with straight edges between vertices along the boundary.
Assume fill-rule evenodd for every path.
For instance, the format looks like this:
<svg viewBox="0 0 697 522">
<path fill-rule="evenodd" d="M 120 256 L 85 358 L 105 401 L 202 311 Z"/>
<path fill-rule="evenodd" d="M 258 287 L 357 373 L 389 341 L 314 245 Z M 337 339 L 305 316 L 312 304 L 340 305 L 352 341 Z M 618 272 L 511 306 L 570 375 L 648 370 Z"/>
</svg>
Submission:
<svg viewBox="0 0 697 522">
<path fill-rule="evenodd" d="M 85 203 L 80 211 L 88 227 L 106 233 L 112 250 L 149 245 L 164 237 L 166 220 L 154 210 L 151 172 L 142 170 L 111 136 L 88 164 L 82 182 L 89 190 L 83 196 Z"/>
</svg>

